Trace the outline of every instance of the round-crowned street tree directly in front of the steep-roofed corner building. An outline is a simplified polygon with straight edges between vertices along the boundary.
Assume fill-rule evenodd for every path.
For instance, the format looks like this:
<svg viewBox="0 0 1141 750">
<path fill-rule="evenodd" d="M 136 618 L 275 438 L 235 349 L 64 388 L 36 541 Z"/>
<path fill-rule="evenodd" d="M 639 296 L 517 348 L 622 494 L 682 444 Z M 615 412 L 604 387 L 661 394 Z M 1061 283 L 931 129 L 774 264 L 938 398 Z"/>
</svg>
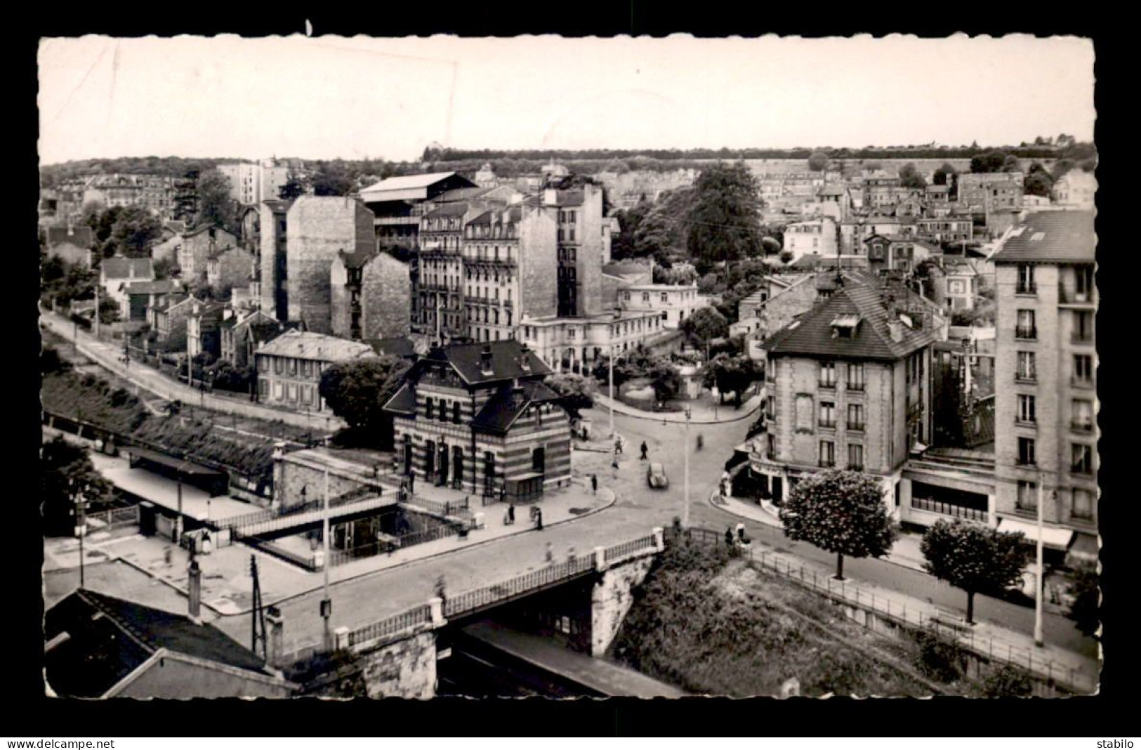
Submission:
<svg viewBox="0 0 1141 750">
<path fill-rule="evenodd" d="M 859 471 L 827 469 L 804 477 L 788 492 L 779 516 L 788 539 L 835 553 L 840 580 L 844 555 L 880 557 L 896 541 L 883 489 Z"/>
</svg>

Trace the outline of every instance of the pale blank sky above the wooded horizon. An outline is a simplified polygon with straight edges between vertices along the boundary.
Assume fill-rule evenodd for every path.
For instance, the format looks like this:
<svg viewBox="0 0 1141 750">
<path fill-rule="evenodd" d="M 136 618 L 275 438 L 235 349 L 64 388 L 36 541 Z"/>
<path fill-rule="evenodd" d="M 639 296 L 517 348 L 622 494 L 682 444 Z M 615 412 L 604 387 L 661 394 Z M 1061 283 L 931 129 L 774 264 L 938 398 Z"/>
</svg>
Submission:
<svg viewBox="0 0 1141 750">
<path fill-rule="evenodd" d="M 1093 139 L 1093 42 L 43 39 L 41 163 Z"/>
</svg>

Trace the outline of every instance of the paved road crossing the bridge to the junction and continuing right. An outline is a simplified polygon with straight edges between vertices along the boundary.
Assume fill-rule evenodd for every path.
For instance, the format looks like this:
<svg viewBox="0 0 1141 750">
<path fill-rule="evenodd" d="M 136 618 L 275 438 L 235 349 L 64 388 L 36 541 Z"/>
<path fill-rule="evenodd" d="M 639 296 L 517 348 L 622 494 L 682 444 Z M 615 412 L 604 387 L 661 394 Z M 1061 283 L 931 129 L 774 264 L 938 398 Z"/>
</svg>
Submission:
<svg viewBox="0 0 1141 750">
<path fill-rule="evenodd" d="M 608 416 L 599 410 L 588 413 L 593 424 L 608 424 Z M 690 443 L 696 443 L 701 432 L 705 446 L 690 453 L 690 523 L 714 530 L 735 525 L 737 516 L 711 506 L 706 499 L 717 486 L 725 461 L 735 445 L 745 437 L 751 419 L 723 425 L 690 428 Z M 685 427 L 663 426 L 656 420 L 615 416 L 615 427 L 626 441 L 626 453 L 620 457 L 620 468 L 612 469 L 608 452 L 575 451 L 575 473 L 580 476 L 598 474 L 599 483 L 613 486 L 617 502 L 599 514 L 567 524 L 551 526 L 542 532 L 511 537 L 500 541 L 472 546 L 453 554 L 428 558 L 396 568 L 343 581 L 332 587 L 332 627 L 356 628 L 422 604 L 434 596 L 435 582 L 443 575 L 446 591 L 460 592 L 499 580 L 511 578 L 545 564 L 547 545 L 556 558 L 565 556 L 568 548 L 577 553 L 596 546 L 625 541 L 649 532 L 654 526 L 669 526 L 682 515 Z M 667 490 L 646 486 L 646 462 L 638 459 L 637 446 L 646 441 L 649 460 L 665 463 L 671 478 Z M 803 542 L 791 542 L 779 530 L 763 524 L 744 522 L 756 543 L 787 551 L 807 562 L 831 568 L 832 554 Z M 952 611 L 965 611 L 966 595 L 931 575 L 887 561 L 849 559 L 845 573 L 853 582 L 882 586 L 917 599 L 931 602 Z M 292 651 L 319 643 L 323 624 L 318 615 L 322 591 L 300 595 L 278 603 L 284 618 L 285 650 Z M 1034 610 L 986 596 L 976 596 L 976 619 L 989 621 L 1023 634 L 1033 634 Z M 249 632 L 248 616 L 221 618 L 220 628 L 238 638 Z M 1044 634 L 1049 643 L 1090 658 L 1097 658 L 1097 642 L 1083 636 L 1074 623 L 1060 615 L 1047 613 Z"/>
</svg>

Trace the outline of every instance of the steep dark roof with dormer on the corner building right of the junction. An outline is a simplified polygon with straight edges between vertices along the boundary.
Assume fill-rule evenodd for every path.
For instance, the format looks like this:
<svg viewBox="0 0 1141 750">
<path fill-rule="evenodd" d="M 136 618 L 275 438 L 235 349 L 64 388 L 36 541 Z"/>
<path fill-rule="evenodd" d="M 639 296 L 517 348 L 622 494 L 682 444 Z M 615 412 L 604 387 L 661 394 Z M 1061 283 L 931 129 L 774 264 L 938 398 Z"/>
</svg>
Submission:
<svg viewBox="0 0 1141 750">
<path fill-rule="evenodd" d="M 849 315 L 858 315 L 861 321 L 855 336 L 834 338 L 832 322 Z M 879 291 L 863 284 L 848 284 L 818 303 L 799 321 L 774 333 L 763 346 L 770 355 L 895 361 L 936 338 L 933 331 L 916 330 L 903 324 L 903 339 L 893 341 L 888 329 L 888 309 Z"/>
</svg>

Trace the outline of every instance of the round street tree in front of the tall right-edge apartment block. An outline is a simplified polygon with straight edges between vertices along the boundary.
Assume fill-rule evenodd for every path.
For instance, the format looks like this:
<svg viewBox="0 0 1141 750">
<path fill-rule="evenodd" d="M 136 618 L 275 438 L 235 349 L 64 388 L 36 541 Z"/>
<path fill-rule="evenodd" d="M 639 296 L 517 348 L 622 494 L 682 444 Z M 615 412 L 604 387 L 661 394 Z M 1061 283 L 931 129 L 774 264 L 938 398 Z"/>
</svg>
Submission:
<svg viewBox="0 0 1141 750">
<path fill-rule="evenodd" d="M 966 591 L 966 621 L 974 622 L 974 595 L 1000 594 L 1022 579 L 1029 559 L 1022 532 L 1004 533 L 978 523 L 938 521 L 923 534 L 923 567 Z"/>
</svg>

